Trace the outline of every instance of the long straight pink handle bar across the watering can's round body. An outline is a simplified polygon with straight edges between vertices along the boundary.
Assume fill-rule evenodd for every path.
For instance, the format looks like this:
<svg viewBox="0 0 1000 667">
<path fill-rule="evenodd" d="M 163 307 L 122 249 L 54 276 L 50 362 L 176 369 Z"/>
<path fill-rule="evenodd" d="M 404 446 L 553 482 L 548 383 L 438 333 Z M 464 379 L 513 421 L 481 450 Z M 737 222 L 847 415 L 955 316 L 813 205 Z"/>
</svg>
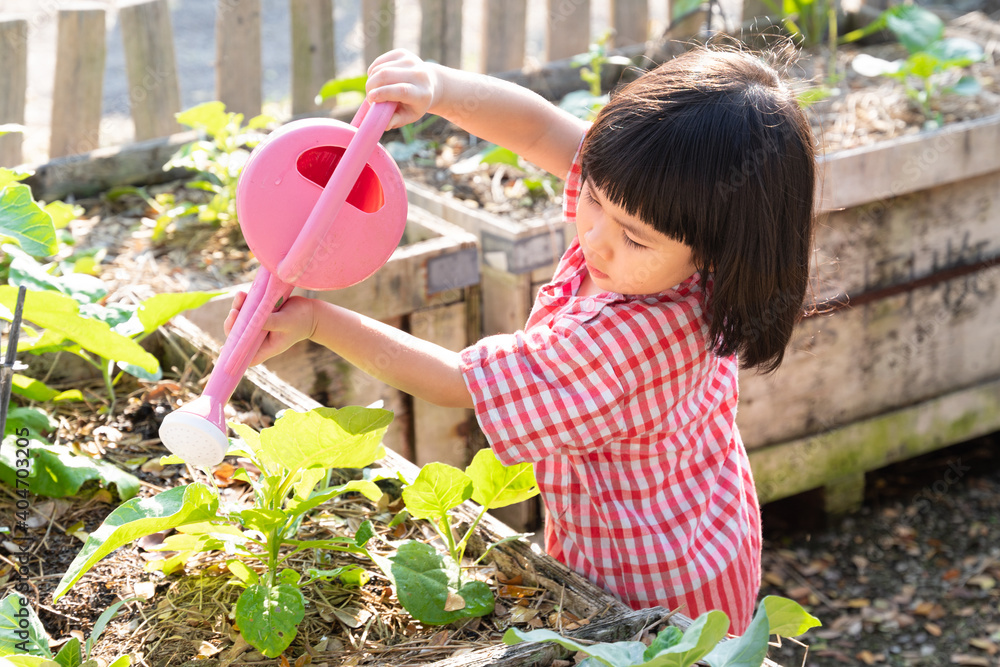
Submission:
<svg viewBox="0 0 1000 667">
<path fill-rule="evenodd" d="M 288 254 L 277 266 L 275 273 L 282 281 L 294 284 L 305 272 L 313 254 L 321 245 L 320 240 L 326 232 L 329 221 L 340 212 L 347 195 L 368 164 L 368 158 L 371 157 L 378 140 L 389 126 L 395 111 L 395 102 L 369 104 L 367 100 L 358 109 L 354 120 L 351 121 L 358 131 L 344 151 L 333 176 L 323 188 L 295 242 L 288 249 Z"/>
</svg>

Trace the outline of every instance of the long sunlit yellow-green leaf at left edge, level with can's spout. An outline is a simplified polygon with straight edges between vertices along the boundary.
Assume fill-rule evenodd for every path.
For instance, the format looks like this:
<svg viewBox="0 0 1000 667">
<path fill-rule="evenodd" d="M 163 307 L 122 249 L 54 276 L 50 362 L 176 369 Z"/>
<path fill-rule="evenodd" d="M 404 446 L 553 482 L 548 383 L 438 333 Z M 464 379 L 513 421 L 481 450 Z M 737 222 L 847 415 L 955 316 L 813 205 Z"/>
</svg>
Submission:
<svg viewBox="0 0 1000 667">
<path fill-rule="evenodd" d="M 0 285 L 0 304 L 12 308 L 16 300 L 16 287 Z M 135 364 L 149 373 L 160 366 L 156 357 L 134 340 L 116 334 L 104 322 L 81 317 L 79 304 L 58 292 L 29 291 L 24 299 L 24 319 L 62 334 L 103 359 Z"/>
</svg>

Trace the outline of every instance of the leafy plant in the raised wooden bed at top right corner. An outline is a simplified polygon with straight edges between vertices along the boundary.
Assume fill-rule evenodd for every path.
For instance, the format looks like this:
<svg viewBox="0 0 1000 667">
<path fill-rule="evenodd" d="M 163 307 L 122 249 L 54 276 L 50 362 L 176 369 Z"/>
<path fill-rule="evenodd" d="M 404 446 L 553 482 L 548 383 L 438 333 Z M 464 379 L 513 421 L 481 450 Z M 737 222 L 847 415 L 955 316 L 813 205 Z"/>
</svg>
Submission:
<svg viewBox="0 0 1000 667">
<path fill-rule="evenodd" d="M 981 89 L 972 75 L 957 73 L 985 57 L 983 48 L 968 39 L 944 37 L 944 22 L 931 11 L 916 5 L 897 5 L 883 12 L 864 28 L 850 32 L 843 42 L 853 42 L 872 33 L 889 30 L 909 55 L 888 61 L 858 54 L 851 67 L 864 76 L 887 76 L 903 85 L 907 97 L 920 108 L 928 129 L 938 127 L 943 118 L 934 110 L 942 95 L 974 95 Z"/>
</svg>

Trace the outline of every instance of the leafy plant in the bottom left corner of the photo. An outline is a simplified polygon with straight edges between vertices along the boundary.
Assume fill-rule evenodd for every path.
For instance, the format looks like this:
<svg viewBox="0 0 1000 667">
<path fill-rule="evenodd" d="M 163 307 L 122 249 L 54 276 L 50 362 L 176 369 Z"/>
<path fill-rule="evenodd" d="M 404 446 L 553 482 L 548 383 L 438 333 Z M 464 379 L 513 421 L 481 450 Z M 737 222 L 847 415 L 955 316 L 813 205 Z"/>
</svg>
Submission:
<svg viewBox="0 0 1000 667">
<path fill-rule="evenodd" d="M 28 606 L 24 597 L 11 593 L 0 601 L 0 664 L 15 667 L 97 667 L 99 663 L 90 657 L 94 642 L 126 602 L 129 600 L 119 600 L 105 609 L 82 645 L 79 639 L 73 637 L 53 656 L 49 649 L 51 638 L 35 610 Z M 123 655 L 108 667 L 128 667 L 131 662 L 129 656 Z"/>
</svg>

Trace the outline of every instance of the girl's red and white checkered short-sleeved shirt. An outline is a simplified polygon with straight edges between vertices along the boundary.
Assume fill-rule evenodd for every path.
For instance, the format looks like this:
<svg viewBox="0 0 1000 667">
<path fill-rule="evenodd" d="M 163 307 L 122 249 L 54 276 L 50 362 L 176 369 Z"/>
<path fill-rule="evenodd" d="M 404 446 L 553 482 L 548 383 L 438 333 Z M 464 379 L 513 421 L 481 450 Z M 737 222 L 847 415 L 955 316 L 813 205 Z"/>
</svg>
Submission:
<svg viewBox="0 0 1000 667">
<path fill-rule="evenodd" d="M 575 222 L 574 161 L 564 215 Z M 506 465 L 530 461 L 546 550 L 633 608 L 749 623 L 760 511 L 736 428 L 737 360 L 711 349 L 696 273 L 659 294 L 579 297 L 574 240 L 523 331 L 462 352 L 476 417 Z"/>
</svg>

